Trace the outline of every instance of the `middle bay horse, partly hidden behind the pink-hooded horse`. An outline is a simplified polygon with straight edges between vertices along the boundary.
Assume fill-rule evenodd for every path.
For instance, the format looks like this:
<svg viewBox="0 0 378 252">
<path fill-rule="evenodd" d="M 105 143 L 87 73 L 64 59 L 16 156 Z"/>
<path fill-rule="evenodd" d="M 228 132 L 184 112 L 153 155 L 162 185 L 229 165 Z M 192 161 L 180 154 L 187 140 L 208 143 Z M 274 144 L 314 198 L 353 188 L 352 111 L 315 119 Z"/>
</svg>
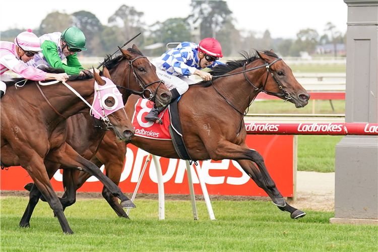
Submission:
<svg viewBox="0 0 378 252">
<path fill-rule="evenodd" d="M 120 92 L 123 93 L 123 102 L 125 103 L 133 93 L 155 101 L 157 106 L 168 105 L 171 94 L 164 84 L 161 85 L 162 82 L 156 75 L 155 66 L 151 64 L 136 45 L 127 50 L 119 49 L 121 54 L 113 58 L 107 56 L 104 59 L 104 66 L 109 70 L 112 81 L 118 85 Z M 93 118 L 89 114 L 77 114 L 67 120 L 66 142 L 87 160 L 90 160 L 95 155 L 106 132 L 101 127 L 93 127 L 93 123 Z M 76 201 L 76 184 L 79 171 L 65 169 L 60 164 L 48 161 L 45 162 L 45 166 L 50 179 L 58 169 L 63 169 L 63 184 L 67 194 L 59 198 L 59 200 L 63 209 L 74 204 Z M 119 181 L 116 182 L 116 184 L 118 183 Z M 21 226 L 29 225 L 32 212 L 41 196 L 38 188 L 32 186 L 33 183 L 25 186 L 30 191 L 30 198 L 25 214 L 20 221 Z M 104 186 L 102 194 L 104 198 L 109 198 L 106 195 L 111 194 L 111 192 Z M 45 200 L 43 197 L 41 199 Z M 108 203 L 112 208 L 117 209 L 119 216 L 129 218 L 118 204 L 116 197 L 112 197 Z"/>
</svg>

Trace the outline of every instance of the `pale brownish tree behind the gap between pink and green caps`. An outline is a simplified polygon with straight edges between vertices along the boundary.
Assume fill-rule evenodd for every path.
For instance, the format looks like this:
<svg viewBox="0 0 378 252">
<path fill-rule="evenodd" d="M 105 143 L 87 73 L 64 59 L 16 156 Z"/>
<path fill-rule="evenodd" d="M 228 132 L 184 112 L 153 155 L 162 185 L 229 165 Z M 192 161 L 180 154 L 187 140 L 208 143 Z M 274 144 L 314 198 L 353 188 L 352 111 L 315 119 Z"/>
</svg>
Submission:
<svg viewBox="0 0 378 252">
<path fill-rule="evenodd" d="M 72 17 L 66 13 L 52 12 L 42 20 L 39 26 L 39 35 L 52 32 L 63 32 L 73 26 Z"/>
</svg>

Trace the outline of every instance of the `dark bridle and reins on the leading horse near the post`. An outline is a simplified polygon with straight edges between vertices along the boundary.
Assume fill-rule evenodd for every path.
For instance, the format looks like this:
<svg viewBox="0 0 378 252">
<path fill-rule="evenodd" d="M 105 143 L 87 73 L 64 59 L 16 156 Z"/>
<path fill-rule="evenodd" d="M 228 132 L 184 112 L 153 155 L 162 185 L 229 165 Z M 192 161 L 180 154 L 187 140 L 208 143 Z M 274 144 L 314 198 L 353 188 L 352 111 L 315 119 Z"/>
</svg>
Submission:
<svg viewBox="0 0 378 252">
<path fill-rule="evenodd" d="M 282 60 L 282 58 L 276 58 L 275 60 L 273 60 L 270 64 L 268 64 L 268 62 L 265 62 L 265 64 L 264 65 L 261 65 L 261 66 L 258 66 L 258 67 L 255 67 L 255 68 L 251 68 L 251 69 L 248 69 L 248 70 L 245 70 L 245 66 L 247 65 L 247 63 L 245 62 L 244 64 L 243 64 L 243 71 L 241 71 L 241 72 L 237 72 L 237 73 L 233 73 L 233 74 L 226 74 L 226 75 L 217 75 L 217 76 L 213 76 L 213 78 L 220 78 L 220 77 L 226 77 L 226 76 L 231 76 L 231 75 L 237 75 L 237 74 L 241 74 L 241 73 L 243 73 L 243 75 L 244 75 L 244 78 L 245 78 L 245 80 L 247 80 L 247 82 L 250 84 L 250 85 L 252 85 L 254 88 L 255 88 L 255 90 L 254 91 L 252 91 L 251 93 L 250 93 L 250 95 L 249 95 L 249 97 L 253 94 L 253 92 L 255 92 L 255 91 L 260 91 L 260 92 L 264 92 L 264 93 L 266 93 L 266 94 L 271 94 L 271 95 L 275 95 L 275 96 L 282 96 L 282 97 L 284 97 L 286 100 L 285 100 L 285 102 L 286 101 L 288 101 L 288 100 L 290 100 L 290 99 L 292 99 L 293 97 L 288 93 L 288 92 L 286 92 L 285 91 L 285 89 L 282 87 L 282 85 L 277 81 L 277 79 L 274 77 L 274 75 L 273 75 L 273 73 L 272 73 L 272 71 L 270 70 L 270 67 L 273 65 L 273 64 L 275 64 L 275 62 L 277 62 L 278 60 Z M 264 86 L 263 86 L 263 88 L 261 89 L 261 88 L 258 88 L 258 87 L 256 87 L 254 84 L 252 84 L 249 80 L 248 80 L 248 78 L 247 78 L 247 76 L 245 75 L 245 73 L 246 72 L 249 72 L 249 71 L 253 71 L 253 70 L 256 70 L 256 69 L 260 69 L 260 68 L 266 68 L 267 69 L 267 78 L 265 79 L 265 83 L 264 83 Z M 280 90 L 282 90 L 283 91 L 283 94 L 281 94 L 281 93 L 275 93 L 275 92 L 271 92 L 271 91 L 266 91 L 265 90 L 265 86 L 267 85 L 267 81 L 268 81 L 268 77 L 269 77 L 269 75 L 270 76 L 272 76 L 273 77 L 273 79 L 274 79 L 274 81 L 277 83 L 277 85 L 278 85 L 278 87 L 279 87 L 279 89 Z M 210 82 L 211 82 L 211 85 L 213 86 L 213 88 L 215 89 L 215 91 L 217 91 L 217 93 L 234 109 L 234 110 L 236 110 L 239 114 L 241 114 L 241 115 L 243 115 L 243 116 L 245 116 L 246 114 L 247 114 L 247 111 L 245 111 L 244 113 L 242 113 L 242 112 L 240 112 L 237 108 L 235 108 L 227 99 L 226 99 L 226 97 L 224 97 L 216 88 L 215 88 L 215 86 L 214 86 L 214 84 L 213 84 L 213 82 L 210 80 Z M 255 98 L 256 98 L 256 96 L 255 96 Z M 254 99 L 255 99 L 254 98 Z M 253 100 L 251 100 L 250 102 L 249 102 L 249 105 L 254 101 L 254 99 Z M 250 98 L 249 98 L 249 100 L 250 100 Z M 248 100 L 248 101 L 249 101 Z M 249 107 L 249 106 L 248 106 Z"/>
</svg>

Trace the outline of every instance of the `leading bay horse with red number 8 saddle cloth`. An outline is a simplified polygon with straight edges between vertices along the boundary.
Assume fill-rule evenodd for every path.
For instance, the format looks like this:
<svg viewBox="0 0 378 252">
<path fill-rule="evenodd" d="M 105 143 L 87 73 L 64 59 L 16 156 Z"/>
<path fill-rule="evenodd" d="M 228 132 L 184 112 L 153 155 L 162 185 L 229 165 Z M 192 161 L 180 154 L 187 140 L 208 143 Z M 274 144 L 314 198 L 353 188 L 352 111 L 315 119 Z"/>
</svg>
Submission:
<svg viewBox="0 0 378 252">
<path fill-rule="evenodd" d="M 228 61 L 226 65 L 215 67 L 210 72 L 213 81 L 190 85 L 181 96 L 177 106 L 186 149 L 193 160 L 236 160 L 279 209 L 289 212 L 293 219 L 301 218 L 305 213 L 285 202 L 269 175 L 263 157 L 245 144 L 243 116 L 260 92 L 289 101 L 297 108 L 307 105 L 310 95 L 273 51 L 256 51 L 254 55 L 242 52 L 241 55 L 241 60 Z M 138 98 L 131 96 L 125 105 L 129 116 L 134 114 Z M 204 128 L 204 125 L 209 124 L 210 132 Z M 91 161 L 99 167 L 104 164 L 107 175 L 116 183 L 123 168 L 128 143 L 157 156 L 179 158 L 171 141 L 133 136 L 125 145 L 113 139 L 113 134 L 105 134 Z M 86 179 L 88 175 L 80 172 L 77 187 Z"/>
</svg>

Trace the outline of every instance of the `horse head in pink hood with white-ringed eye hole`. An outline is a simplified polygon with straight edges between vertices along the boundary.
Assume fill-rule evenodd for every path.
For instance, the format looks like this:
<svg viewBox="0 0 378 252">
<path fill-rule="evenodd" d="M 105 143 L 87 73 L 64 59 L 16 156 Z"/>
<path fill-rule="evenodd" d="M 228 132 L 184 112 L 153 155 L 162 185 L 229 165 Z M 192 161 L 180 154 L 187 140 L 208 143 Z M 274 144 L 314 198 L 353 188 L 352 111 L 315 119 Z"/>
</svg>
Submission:
<svg viewBox="0 0 378 252">
<path fill-rule="evenodd" d="M 111 81 L 110 74 L 105 67 L 103 69 L 103 75 L 105 78 L 101 78 L 95 71 L 93 71 L 93 73 L 99 86 L 99 98 L 95 95 L 93 104 L 95 104 L 96 101 L 100 103 L 99 112 L 102 112 L 103 115 L 106 116 L 105 118 L 108 118 L 108 121 L 105 121 L 105 123 L 108 124 L 107 128 L 114 131 L 117 139 L 119 141 L 130 141 L 135 130 L 133 123 L 124 111 L 122 95 Z M 106 80 L 106 78 L 108 80 Z M 105 87 L 105 85 L 109 87 Z M 96 113 L 94 113 L 94 116 L 96 117 Z M 97 116 L 97 118 L 99 117 Z"/>
</svg>

